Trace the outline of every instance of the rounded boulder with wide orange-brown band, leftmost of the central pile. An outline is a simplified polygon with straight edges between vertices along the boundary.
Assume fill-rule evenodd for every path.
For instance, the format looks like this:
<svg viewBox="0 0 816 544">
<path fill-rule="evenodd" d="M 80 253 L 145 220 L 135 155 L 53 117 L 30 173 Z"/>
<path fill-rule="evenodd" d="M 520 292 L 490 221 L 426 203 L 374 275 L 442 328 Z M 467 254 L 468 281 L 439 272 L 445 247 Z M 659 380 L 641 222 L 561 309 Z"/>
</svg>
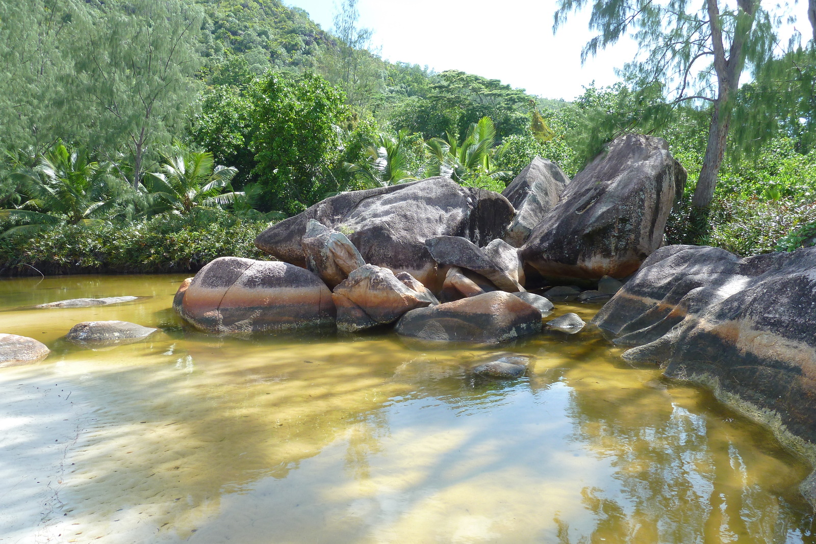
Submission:
<svg viewBox="0 0 816 544">
<path fill-rule="evenodd" d="M 277 261 L 220 257 L 183 283 L 173 307 L 197 329 L 254 333 L 335 325 L 335 303 L 321 279 Z M 183 292 L 182 292 L 183 291 Z"/>
</svg>

